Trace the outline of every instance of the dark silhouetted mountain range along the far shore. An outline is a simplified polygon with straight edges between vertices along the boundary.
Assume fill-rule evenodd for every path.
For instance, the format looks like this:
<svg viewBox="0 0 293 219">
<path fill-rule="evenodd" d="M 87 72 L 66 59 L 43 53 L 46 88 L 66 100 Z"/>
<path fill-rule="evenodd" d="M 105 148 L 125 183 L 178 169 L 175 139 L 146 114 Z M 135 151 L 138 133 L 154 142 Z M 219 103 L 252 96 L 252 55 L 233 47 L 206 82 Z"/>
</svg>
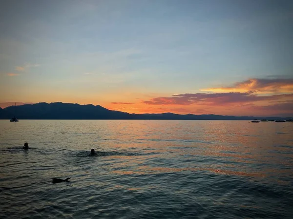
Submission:
<svg viewBox="0 0 293 219">
<path fill-rule="evenodd" d="M 251 119 L 292 119 L 281 117 L 248 117 L 220 115 L 180 115 L 174 113 L 161 114 L 129 114 L 108 110 L 100 105 L 80 105 L 76 103 L 46 103 L 25 104 L 0 108 L 0 119 L 170 119 L 170 120 L 251 120 Z"/>
</svg>

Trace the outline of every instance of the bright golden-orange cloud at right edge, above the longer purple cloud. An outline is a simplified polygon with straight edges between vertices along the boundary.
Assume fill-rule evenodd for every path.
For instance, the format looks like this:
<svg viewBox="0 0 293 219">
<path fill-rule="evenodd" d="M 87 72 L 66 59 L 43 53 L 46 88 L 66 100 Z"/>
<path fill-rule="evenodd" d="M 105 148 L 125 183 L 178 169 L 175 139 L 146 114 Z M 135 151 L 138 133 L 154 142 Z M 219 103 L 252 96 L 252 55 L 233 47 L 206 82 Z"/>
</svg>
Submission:
<svg viewBox="0 0 293 219">
<path fill-rule="evenodd" d="M 249 79 L 236 82 L 233 86 L 207 88 L 201 91 L 211 92 L 249 92 L 255 93 L 292 93 L 293 79 Z"/>
</svg>

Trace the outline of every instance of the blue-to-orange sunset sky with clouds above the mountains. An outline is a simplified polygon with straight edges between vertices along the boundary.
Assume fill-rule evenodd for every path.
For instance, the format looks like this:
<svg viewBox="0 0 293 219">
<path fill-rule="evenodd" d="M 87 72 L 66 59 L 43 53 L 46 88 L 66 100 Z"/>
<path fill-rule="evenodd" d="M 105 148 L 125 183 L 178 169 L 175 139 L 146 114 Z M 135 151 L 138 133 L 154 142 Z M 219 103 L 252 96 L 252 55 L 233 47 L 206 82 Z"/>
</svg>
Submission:
<svg viewBox="0 0 293 219">
<path fill-rule="evenodd" d="M 0 0 L 0 107 L 293 116 L 292 0 Z"/>
</svg>

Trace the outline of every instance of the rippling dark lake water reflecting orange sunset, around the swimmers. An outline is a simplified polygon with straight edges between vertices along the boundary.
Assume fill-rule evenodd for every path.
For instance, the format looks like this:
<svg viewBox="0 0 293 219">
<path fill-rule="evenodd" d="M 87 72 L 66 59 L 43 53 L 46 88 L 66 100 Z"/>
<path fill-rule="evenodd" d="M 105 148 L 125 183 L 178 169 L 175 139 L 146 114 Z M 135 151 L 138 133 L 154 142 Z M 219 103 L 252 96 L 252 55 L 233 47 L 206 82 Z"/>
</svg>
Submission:
<svg viewBox="0 0 293 219">
<path fill-rule="evenodd" d="M 292 203 L 290 122 L 0 120 L 1 219 L 292 219 Z"/>
</svg>

